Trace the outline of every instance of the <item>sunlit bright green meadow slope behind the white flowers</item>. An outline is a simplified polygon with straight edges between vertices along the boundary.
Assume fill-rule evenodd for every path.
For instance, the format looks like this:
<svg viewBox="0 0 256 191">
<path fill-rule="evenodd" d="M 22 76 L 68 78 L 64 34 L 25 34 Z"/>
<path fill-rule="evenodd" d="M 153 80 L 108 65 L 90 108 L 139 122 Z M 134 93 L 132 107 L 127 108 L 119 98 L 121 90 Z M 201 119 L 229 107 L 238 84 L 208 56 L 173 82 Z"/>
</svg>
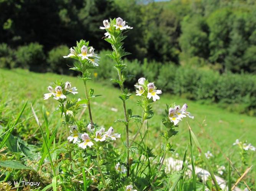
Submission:
<svg viewBox="0 0 256 191">
<path fill-rule="evenodd" d="M 145 76 L 146 77 L 146 76 Z M 70 81 L 72 86 L 78 88 L 79 94 L 76 95 L 76 98 L 84 98 L 84 88 L 83 82 L 71 76 L 61 76 L 52 73 L 38 74 L 32 73 L 25 70 L 3 70 L 0 69 L 0 103 L 5 104 L 7 110 L 4 110 L 0 114 L 0 121 L 7 123 L 8 118 L 15 119 L 17 114 L 22 108 L 22 105 L 28 100 L 28 105 L 33 104 L 36 114 L 38 115 L 39 121 L 43 121 L 43 114 L 41 112 L 42 104 L 45 105 L 46 112 L 49 112 L 49 119 L 53 124 L 58 122 L 59 113 L 53 112 L 57 107 L 58 103 L 53 100 L 43 100 L 43 94 L 47 93 L 47 86 L 51 82 L 56 81 L 56 79 L 63 79 L 63 81 Z M 123 118 L 122 103 L 117 96 L 120 94 L 118 88 L 115 88 L 111 85 L 110 81 L 95 82 L 91 81 L 88 83 L 89 88 L 94 89 L 95 94 L 101 94 L 102 96 L 96 97 L 92 100 L 92 117 L 98 125 L 103 125 L 106 128 L 113 126 L 116 132 L 121 133 L 123 139 L 125 139 L 125 127 L 122 123 L 114 123 L 116 119 Z M 157 84 L 156 84 L 157 86 Z M 161 87 L 158 87 L 161 89 Z M 127 108 L 133 109 L 134 115 L 140 115 L 141 110 L 137 107 L 136 101 L 139 99 L 139 96 L 135 96 L 132 92 L 131 98 L 127 102 Z M 213 163 L 218 163 L 220 165 L 225 165 L 228 169 L 227 161 L 225 157 L 220 153 L 216 144 L 221 148 L 221 151 L 226 155 L 231 156 L 231 160 L 236 163 L 239 162 L 238 149 L 232 146 L 233 142 L 236 139 L 241 141 L 248 140 L 254 146 L 256 145 L 256 118 L 249 117 L 247 115 L 242 115 L 238 113 L 230 113 L 227 110 L 220 108 L 217 104 L 203 105 L 200 102 L 195 102 L 192 100 L 187 100 L 182 97 L 177 97 L 163 92 L 160 95 L 160 100 L 153 104 L 153 109 L 155 116 L 149 121 L 149 137 L 148 145 L 153 148 L 153 152 L 158 154 L 160 151 L 160 144 L 162 138 L 160 137 L 162 125 L 162 116 L 165 109 L 165 104 L 175 102 L 178 105 L 183 105 L 184 103 L 188 104 L 188 111 L 191 112 L 195 119 L 185 118 L 182 122 L 179 123 L 179 134 L 172 139 L 172 144 L 174 144 L 174 149 L 182 156 L 185 152 L 185 147 L 190 142 L 188 125 L 190 124 L 193 132 L 198 138 L 203 151 L 211 151 L 215 156 Z M 111 108 L 117 108 L 118 112 L 114 112 Z M 1 108 L 0 108 L 1 109 Z M 25 120 L 32 116 L 31 108 L 26 107 L 21 120 Z M 89 121 L 87 111 L 83 114 L 82 118 L 85 118 Z M 35 133 L 35 129 L 38 126 L 33 117 L 24 121 L 14 130 L 14 133 L 17 135 L 23 136 L 23 139 L 26 139 L 30 142 L 33 142 L 33 136 L 40 137 L 40 131 Z M 50 128 L 50 127 L 49 127 Z M 52 126 L 51 128 L 54 128 Z M 63 127 L 64 128 L 64 127 Z M 0 126 L 1 130 L 1 126 Z M 142 128 L 142 132 L 145 129 Z M 130 128 L 130 136 L 135 134 L 136 125 L 132 123 Z M 211 137 L 211 141 L 208 137 Z M 36 144 L 36 142 L 34 142 Z M 118 146 L 118 142 L 116 144 Z M 197 155 L 198 152 L 194 149 L 194 155 Z M 255 154 L 253 154 L 255 156 Z M 251 156 L 251 163 L 255 163 L 254 157 Z M 240 172 L 243 173 L 243 172 Z M 254 172 L 255 173 L 255 168 Z M 235 178 L 238 178 L 237 175 L 234 175 Z"/>
</svg>

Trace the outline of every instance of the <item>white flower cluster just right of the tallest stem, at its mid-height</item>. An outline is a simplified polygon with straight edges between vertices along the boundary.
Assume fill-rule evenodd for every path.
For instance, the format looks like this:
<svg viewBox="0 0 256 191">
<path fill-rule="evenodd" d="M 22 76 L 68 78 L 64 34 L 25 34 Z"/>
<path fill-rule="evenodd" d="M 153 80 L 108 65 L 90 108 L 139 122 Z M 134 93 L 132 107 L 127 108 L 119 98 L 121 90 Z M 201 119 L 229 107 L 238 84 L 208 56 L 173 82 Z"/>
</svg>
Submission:
<svg viewBox="0 0 256 191">
<path fill-rule="evenodd" d="M 148 81 L 145 78 L 140 78 L 138 80 L 139 85 L 134 85 L 136 89 L 136 95 L 143 95 L 144 92 L 147 93 L 147 98 L 148 99 L 153 99 L 155 102 L 156 100 L 159 100 L 160 97 L 157 94 L 162 94 L 161 90 L 156 89 L 154 83 L 148 83 Z"/>
</svg>

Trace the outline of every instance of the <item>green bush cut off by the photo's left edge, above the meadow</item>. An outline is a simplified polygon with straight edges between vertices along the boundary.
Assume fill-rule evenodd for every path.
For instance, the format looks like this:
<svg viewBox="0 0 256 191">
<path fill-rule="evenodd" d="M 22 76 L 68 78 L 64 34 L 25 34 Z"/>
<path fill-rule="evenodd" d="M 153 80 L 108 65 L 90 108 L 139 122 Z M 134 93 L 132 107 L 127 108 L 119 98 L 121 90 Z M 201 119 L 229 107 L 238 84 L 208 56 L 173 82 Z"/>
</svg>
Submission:
<svg viewBox="0 0 256 191">
<path fill-rule="evenodd" d="M 13 68 L 13 50 L 5 43 L 0 44 L 0 68 Z"/>
</svg>

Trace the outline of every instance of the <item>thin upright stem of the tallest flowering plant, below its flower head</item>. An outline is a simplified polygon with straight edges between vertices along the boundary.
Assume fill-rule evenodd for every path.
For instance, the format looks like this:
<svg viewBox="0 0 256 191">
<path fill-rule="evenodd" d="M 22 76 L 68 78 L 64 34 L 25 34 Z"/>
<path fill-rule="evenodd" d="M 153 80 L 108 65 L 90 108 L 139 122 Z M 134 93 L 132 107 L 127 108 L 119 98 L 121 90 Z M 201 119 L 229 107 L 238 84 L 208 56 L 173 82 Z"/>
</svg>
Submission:
<svg viewBox="0 0 256 191">
<path fill-rule="evenodd" d="M 119 81 L 121 82 L 120 84 L 120 88 L 121 88 L 121 92 L 122 94 L 124 94 L 124 83 L 122 81 L 122 74 L 121 74 L 121 70 L 118 68 L 117 69 L 118 72 L 118 77 L 119 77 Z M 128 117 L 127 117 L 127 110 L 126 110 L 126 102 L 125 100 L 123 101 L 123 108 L 124 108 L 124 118 L 126 120 L 126 147 L 127 147 L 127 177 L 130 174 L 130 165 L 129 165 L 129 121 L 128 121 Z"/>
</svg>

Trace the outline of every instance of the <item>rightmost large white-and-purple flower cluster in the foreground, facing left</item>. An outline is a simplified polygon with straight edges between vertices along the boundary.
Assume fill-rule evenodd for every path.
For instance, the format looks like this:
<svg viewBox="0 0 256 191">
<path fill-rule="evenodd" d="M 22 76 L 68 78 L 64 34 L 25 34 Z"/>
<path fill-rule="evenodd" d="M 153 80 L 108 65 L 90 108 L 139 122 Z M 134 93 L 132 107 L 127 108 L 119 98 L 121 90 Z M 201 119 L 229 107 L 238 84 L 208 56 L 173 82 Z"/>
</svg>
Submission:
<svg viewBox="0 0 256 191">
<path fill-rule="evenodd" d="M 174 105 L 174 107 L 169 108 L 169 119 L 174 123 L 174 125 L 177 125 L 179 121 L 182 120 L 182 118 L 188 116 L 190 118 L 194 118 L 193 115 L 191 115 L 190 112 L 187 112 L 187 104 L 184 104 L 182 108 L 180 108 L 180 105 Z"/>
</svg>

